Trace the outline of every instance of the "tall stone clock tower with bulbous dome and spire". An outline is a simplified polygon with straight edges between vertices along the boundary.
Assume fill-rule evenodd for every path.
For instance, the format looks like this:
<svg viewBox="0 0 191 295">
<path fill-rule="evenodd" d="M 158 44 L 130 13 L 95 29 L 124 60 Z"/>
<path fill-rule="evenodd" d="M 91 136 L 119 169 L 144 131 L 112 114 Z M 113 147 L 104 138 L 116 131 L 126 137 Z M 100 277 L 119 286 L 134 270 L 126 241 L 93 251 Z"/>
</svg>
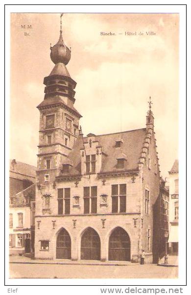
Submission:
<svg viewBox="0 0 191 295">
<path fill-rule="evenodd" d="M 71 59 L 71 50 L 62 36 L 51 47 L 50 58 L 54 68 L 45 77 L 45 96 L 37 107 L 40 111 L 38 175 L 39 183 L 53 182 L 67 161 L 68 154 L 79 135 L 79 119 L 82 117 L 74 108 L 76 82 L 71 78 L 66 65 Z"/>
</svg>

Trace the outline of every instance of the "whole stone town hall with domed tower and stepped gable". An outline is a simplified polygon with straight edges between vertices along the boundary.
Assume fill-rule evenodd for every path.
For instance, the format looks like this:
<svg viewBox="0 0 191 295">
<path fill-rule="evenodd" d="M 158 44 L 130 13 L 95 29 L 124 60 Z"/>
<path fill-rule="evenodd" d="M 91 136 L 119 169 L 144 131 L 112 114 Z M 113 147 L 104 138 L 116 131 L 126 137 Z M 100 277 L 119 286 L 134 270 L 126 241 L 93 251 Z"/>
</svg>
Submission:
<svg viewBox="0 0 191 295">
<path fill-rule="evenodd" d="M 138 262 L 144 249 L 152 262 L 160 167 L 151 102 L 142 129 L 84 136 L 62 27 L 50 50 L 55 66 L 38 106 L 35 258 Z"/>
</svg>

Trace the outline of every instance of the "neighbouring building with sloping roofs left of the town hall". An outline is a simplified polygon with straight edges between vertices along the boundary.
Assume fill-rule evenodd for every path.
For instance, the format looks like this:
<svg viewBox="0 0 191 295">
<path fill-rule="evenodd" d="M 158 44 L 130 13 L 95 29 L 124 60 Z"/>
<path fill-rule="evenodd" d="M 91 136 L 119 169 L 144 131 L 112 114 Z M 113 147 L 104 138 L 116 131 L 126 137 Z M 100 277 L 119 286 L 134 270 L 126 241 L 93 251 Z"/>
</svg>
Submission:
<svg viewBox="0 0 191 295">
<path fill-rule="evenodd" d="M 34 251 L 36 167 L 10 161 L 9 254 Z"/>
</svg>

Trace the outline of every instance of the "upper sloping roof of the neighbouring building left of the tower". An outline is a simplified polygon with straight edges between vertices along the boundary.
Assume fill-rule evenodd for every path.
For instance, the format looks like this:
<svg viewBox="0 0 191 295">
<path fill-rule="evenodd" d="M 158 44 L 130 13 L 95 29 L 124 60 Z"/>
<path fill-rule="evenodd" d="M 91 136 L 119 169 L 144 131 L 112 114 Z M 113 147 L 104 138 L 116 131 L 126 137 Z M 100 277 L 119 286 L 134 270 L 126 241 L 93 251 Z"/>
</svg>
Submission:
<svg viewBox="0 0 191 295">
<path fill-rule="evenodd" d="M 10 160 L 9 176 L 20 180 L 30 180 L 35 182 L 37 167 L 16 161 Z"/>
</svg>

